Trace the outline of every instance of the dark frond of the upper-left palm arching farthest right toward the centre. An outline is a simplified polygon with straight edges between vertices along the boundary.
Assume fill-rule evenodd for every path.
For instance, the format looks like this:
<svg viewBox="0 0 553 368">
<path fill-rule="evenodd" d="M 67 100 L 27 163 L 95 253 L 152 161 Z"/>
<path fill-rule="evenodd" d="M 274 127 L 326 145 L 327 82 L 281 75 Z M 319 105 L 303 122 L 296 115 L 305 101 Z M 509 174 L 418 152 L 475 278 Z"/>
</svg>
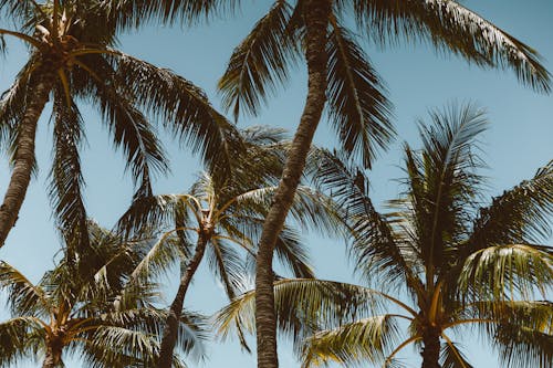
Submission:
<svg viewBox="0 0 553 368">
<path fill-rule="evenodd" d="M 204 91 L 167 69 L 129 55 L 119 54 L 114 63 L 119 77 L 136 97 L 137 106 L 159 117 L 182 144 L 190 145 L 210 167 L 231 167 L 231 155 L 240 150 L 239 134 L 209 104 Z"/>
</svg>

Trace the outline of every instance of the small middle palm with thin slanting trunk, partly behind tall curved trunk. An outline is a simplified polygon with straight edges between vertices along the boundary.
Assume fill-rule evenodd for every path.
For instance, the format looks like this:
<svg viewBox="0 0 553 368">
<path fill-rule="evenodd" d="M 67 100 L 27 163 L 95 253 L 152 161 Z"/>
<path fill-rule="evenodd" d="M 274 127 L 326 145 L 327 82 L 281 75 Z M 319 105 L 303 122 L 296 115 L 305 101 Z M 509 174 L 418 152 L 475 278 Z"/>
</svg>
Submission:
<svg viewBox="0 0 553 368">
<path fill-rule="evenodd" d="M 283 132 L 279 129 L 252 127 L 243 130 L 242 136 L 247 154 L 233 156 L 230 175 L 217 169 L 204 172 L 188 193 L 140 199 L 121 220 L 125 232 L 144 225 L 159 228 L 160 221 L 168 221 L 173 227 L 144 260 L 143 275 L 148 275 L 148 269 L 168 266 L 164 260 L 174 252 L 170 248 L 175 244 L 167 244 L 165 240 L 174 233 L 178 233 L 177 239 L 185 245 L 181 249 L 188 253 L 165 324 L 159 368 L 171 366 L 177 322 L 188 287 L 206 252 L 229 299 L 237 295 L 237 288 L 244 280 L 244 257 L 239 251 L 246 253 L 250 264 L 254 264 L 257 240 L 271 203 L 274 185 L 282 172 L 286 144 L 282 140 Z M 313 227 L 333 231 L 340 225 L 334 217 L 336 209 L 333 202 L 309 187 L 299 188 L 292 208 L 295 218 L 305 225 L 311 222 Z M 186 246 L 191 241 L 196 245 Z M 296 277 L 314 277 L 300 236 L 292 228 L 286 227 L 279 235 L 276 253 Z M 246 346 L 243 339 L 242 343 Z"/>
</svg>

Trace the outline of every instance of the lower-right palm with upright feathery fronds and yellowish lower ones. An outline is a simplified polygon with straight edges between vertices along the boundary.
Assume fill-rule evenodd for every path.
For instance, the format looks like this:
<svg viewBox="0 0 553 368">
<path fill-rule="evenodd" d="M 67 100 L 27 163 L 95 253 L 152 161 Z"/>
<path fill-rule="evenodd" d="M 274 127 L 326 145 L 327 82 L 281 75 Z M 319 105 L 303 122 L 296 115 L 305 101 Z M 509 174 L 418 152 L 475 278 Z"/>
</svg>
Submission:
<svg viewBox="0 0 553 368">
<path fill-rule="evenodd" d="M 536 292 L 545 298 L 553 284 L 552 249 L 540 245 L 551 234 L 553 161 L 480 207 L 474 140 L 486 128 L 482 112 L 451 108 L 432 112 L 431 119 L 420 126 L 422 149 L 405 145 L 406 191 L 388 213 L 373 207 L 361 170 L 327 155 L 322 185 L 342 197 L 357 270 L 378 286 L 275 283 L 281 324 L 299 337 L 311 335 L 305 367 L 328 360 L 396 367 L 396 354 L 415 344 L 422 368 L 467 368 L 450 332 L 469 326 L 488 337 L 503 367 L 553 362 L 553 304 L 533 299 Z M 253 319 L 254 298 L 248 293 L 222 311 L 223 333 L 237 318 Z M 307 324 L 290 326 L 298 319 Z"/>
</svg>

